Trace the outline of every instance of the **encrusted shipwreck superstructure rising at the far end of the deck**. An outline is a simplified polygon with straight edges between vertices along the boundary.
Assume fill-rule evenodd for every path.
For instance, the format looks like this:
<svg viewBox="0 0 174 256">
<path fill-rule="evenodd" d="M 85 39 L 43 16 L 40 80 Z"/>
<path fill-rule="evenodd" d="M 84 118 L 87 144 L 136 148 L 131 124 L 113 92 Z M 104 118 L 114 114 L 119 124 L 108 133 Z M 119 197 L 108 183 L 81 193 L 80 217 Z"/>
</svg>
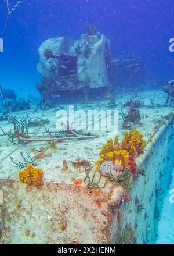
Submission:
<svg viewBox="0 0 174 256">
<path fill-rule="evenodd" d="M 144 73 L 133 55 L 112 61 L 110 40 L 91 26 L 77 41 L 66 37 L 46 40 L 39 48 L 37 70 L 42 76 L 36 85 L 42 106 L 106 98 L 118 86 L 135 86 Z"/>
</svg>

